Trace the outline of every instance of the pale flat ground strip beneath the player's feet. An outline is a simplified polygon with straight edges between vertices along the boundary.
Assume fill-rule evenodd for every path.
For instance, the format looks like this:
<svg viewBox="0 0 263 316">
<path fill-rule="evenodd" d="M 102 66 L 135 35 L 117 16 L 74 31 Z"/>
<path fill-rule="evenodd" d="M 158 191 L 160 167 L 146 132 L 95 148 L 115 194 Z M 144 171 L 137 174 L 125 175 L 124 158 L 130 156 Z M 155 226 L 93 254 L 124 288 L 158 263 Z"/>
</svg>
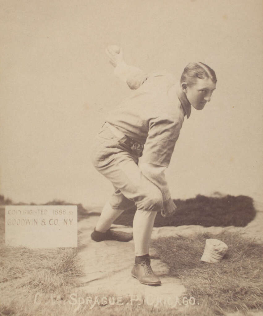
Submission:
<svg viewBox="0 0 263 316">
<path fill-rule="evenodd" d="M 145 301 L 148 305 L 173 306 L 185 293 L 180 279 L 172 277 L 160 260 L 151 259 L 153 271 L 160 277 L 161 286 L 139 283 L 131 276 L 134 264 L 134 241 L 113 240 L 95 242 L 90 234 L 98 217 L 91 216 L 79 222 L 79 257 L 83 263 L 84 276 L 81 286 L 87 294 L 114 293 L 123 300 Z M 132 233 L 131 227 L 113 225 L 113 229 Z M 150 249 L 150 254 L 153 253 Z"/>
</svg>

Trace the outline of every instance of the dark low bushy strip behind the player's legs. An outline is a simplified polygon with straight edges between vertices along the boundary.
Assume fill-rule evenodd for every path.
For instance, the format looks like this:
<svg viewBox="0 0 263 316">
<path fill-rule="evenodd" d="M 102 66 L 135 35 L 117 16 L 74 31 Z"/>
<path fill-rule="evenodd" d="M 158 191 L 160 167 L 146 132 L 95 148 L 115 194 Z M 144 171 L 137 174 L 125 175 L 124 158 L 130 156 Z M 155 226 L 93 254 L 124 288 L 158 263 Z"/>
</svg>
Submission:
<svg viewBox="0 0 263 316">
<path fill-rule="evenodd" d="M 185 201 L 179 199 L 173 201 L 177 206 L 176 214 L 165 218 L 158 213 L 154 227 L 182 225 L 245 227 L 256 214 L 253 199 L 243 195 L 237 197 L 197 195 Z M 114 223 L 132 227 L 135 211 L 124 211 Z"/>
</svg>

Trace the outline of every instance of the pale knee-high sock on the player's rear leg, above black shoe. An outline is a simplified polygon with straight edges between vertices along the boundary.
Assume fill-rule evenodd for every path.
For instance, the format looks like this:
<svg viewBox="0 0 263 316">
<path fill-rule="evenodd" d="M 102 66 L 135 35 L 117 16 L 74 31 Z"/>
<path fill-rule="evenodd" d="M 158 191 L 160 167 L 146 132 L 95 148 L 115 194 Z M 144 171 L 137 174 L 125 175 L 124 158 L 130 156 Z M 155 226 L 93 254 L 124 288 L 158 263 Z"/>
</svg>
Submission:
<svg viewBox="0 0 263 316">
<path fill-rule="evenodd" d="M 95 229 L 98 232 L 106 233 L 111 224 L 116 220 L 118 216 L 122 214 L 123 210 L 114 210 L 110 203 L 107 202 L 101 212 L 100 218 L 96 224 Z"/>
</svg>

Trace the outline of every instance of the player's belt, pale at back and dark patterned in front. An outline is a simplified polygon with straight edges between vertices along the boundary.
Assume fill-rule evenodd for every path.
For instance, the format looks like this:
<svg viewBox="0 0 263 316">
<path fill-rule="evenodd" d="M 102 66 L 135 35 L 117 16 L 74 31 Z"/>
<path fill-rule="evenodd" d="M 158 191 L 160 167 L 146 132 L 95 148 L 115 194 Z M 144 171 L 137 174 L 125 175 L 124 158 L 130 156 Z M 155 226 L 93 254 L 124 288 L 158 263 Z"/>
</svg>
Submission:
<svg viewBox="0 0 263 316">
<path fill-rule="evenodd" d="M 118 130 L 115 126 L 111 125 L 108 122 L 104 123 L 112 132 L 114 136 L 118 138 L 118 142 L 129 151 L 131 150 L 133 153 L 135 152 L 137 155 L 141 157 L 142 150 L 144 144 L 141 142 L 138 142 L 131 137 L 125 135 L 122 131 Z"/>
</svg>

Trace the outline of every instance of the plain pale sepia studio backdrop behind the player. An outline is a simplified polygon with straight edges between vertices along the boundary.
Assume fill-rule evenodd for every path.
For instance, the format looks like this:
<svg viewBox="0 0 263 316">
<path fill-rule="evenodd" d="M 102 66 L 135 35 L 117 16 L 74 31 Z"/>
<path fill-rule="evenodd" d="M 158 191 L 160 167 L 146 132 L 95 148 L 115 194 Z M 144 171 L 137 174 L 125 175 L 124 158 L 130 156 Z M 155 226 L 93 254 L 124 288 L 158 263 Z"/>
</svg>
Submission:
<svg viewBox="0 0 263 316">
<path fill-rule="evenodd" d="M 216 71 L 192 109 L 167 180 L 173 198 L 263 189 L 261 0 L 2 0 L 0 193 L 15 202 L 103 205 L 112 186 L 91 165 L 92 138 L 130 91 L 105 54 L 180 76 L 190 61 Z M 161 106 L 161 105 L 160 105 Z"/>
</svg>

